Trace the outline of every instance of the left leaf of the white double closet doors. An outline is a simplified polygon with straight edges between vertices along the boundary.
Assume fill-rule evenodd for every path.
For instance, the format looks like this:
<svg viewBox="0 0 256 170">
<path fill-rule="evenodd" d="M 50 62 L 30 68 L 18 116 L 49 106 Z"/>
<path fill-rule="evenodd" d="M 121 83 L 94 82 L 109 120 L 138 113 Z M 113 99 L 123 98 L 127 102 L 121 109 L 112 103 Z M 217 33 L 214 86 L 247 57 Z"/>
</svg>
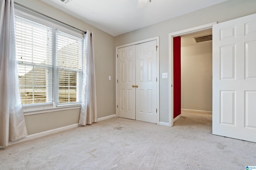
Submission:
<svg viewBox="0 0 256 170">
<path fill-rule="evenodd" d="M 135 119 L 135 45 L 118 49 L 118 117 Z"/>
</svg>

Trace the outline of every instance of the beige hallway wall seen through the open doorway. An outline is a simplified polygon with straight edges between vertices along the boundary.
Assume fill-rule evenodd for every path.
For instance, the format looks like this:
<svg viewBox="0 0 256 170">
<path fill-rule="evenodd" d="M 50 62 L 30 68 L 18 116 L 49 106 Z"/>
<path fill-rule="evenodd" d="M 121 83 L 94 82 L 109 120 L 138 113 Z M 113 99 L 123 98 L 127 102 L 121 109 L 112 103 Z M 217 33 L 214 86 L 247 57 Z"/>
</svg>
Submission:
<svg viewBox="0 0 256 170">
<path fill-rule="evenodd" d="M 212 42 L 181 47 L 181 108 L 212 111 Z"/>
</svg>

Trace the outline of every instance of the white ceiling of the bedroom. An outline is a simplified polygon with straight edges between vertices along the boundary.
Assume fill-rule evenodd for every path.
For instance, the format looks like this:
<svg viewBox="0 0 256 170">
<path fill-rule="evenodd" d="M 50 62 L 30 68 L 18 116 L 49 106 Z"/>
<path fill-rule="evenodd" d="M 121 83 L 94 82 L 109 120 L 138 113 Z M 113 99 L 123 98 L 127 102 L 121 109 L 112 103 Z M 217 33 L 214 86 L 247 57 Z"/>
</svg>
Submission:
<svg viewBox="0 0 256 170">
<path fill-rule="evenodd" d="M 117 36 L 227 0 L 152 0 L 144 8 L 137 8 L 138 0 L 42 1 Z"/>
</svg>

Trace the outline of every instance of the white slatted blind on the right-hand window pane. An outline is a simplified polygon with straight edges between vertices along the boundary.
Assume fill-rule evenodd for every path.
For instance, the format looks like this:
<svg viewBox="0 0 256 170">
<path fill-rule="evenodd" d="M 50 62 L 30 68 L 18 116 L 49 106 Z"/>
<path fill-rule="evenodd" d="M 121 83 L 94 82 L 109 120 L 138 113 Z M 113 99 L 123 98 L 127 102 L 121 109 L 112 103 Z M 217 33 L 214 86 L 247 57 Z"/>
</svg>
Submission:
<svg viewBox="0 0 256 170">
<path fill-rule="evenodd" d="M 82 46 L 82 39 L 56 32 L 58 105 L 81 102 Z"/>
</svg>

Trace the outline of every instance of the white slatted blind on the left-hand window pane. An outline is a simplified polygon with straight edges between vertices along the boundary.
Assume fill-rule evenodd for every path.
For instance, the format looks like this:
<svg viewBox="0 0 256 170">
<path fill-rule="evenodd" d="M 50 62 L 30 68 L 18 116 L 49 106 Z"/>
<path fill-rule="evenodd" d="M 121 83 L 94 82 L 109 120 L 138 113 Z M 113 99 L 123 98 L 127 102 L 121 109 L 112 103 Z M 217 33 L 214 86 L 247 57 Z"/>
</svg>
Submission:
<svg viewBox="0 0 256 170">
<path fill-rule="evenodd" d="M 53 102 L 53 29 L 15 16 L 22 104 Z"/>
</svg>

